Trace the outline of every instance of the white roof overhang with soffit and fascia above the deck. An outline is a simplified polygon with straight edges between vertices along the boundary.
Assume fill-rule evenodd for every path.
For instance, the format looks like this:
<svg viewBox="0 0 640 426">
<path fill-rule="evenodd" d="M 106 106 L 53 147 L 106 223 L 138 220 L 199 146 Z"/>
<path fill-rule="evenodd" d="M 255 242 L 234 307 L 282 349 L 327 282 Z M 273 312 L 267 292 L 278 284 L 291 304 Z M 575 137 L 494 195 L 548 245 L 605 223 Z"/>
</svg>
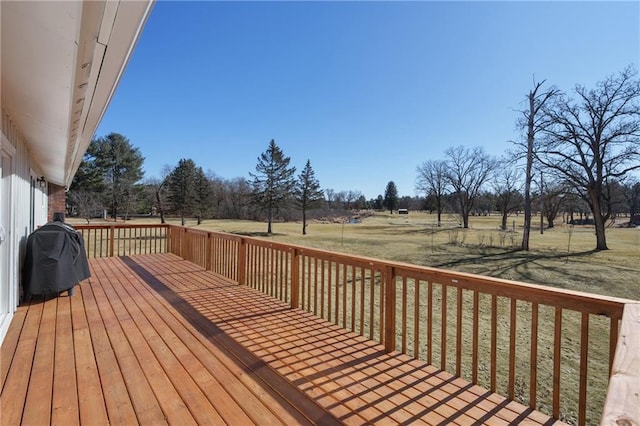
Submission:
<svg viewBox="0 0 640 426">
<path fill-rule="evenodd" d="M 48 181 L 71 185 L 154 0 L 2 1 L 2 106 Z"/>
</svg>

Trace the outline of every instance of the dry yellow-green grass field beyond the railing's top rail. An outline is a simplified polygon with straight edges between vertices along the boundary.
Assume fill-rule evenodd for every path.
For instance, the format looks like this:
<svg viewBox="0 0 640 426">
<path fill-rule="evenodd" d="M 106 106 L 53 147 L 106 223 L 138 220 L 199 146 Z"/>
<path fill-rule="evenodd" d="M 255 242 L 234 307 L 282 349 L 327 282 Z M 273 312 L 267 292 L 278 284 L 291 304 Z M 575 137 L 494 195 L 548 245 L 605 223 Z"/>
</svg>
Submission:
<svg viewBox="0 0 640 426">
<path fill-rule="evenodd" d="M 512 221 L 515 232 L 500 231 L 498 216 L 471 217 L 471 228 L 464 230 L 456 216 L 443 218 L 437 228 L 435 216 L 419 212 L 378 213 L 360 223 L 312 222 L 307 235 L 294 222 L 274 223 L 272 236 L 262 222 L 207 220 L 197 228 L 640 300 L 640 229 L 608 228 L 610 250 L 595 252 L 591 226 L 560 224 L 543 235 L 536 228 L 531 250 L 522 252 L 517 250 L 522 217 L 510 218 L 510 225 Z M 187 226 L 196 223 L 187 221 Z"/>
</svg>

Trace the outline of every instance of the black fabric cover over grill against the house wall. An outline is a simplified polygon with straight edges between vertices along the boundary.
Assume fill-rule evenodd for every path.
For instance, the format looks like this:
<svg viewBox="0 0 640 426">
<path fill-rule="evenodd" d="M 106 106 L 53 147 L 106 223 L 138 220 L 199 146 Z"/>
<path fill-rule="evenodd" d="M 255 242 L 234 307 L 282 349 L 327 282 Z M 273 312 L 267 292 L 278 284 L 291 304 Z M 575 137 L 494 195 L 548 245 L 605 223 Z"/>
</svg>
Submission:
<svg viewBox="0 0 640 426">
<path fill-rule="evenodd" d="M 23 268 L 25 299 L 70 290 L 90 276 L 84 239 L 72 226 L 49 222 L 29 235 Z"/>
</svg>

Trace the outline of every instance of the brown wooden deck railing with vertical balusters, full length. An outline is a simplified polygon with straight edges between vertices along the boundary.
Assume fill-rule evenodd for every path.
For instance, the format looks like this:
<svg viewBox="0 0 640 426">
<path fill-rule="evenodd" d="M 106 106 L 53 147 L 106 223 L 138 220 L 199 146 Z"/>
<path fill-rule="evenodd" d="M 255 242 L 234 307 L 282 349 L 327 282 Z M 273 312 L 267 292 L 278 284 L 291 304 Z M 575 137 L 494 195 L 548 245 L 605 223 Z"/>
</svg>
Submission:
<svg viewBox="0 0 640 426">
<path fill-rule="evenodd" d="M 640 421 L 638 302 L 177 226 L 117 228 L 78 227 L 94 230 L 90 256 L 152 253 L 161 240 L 159 251 L 554 418 Z"/>
</svg>

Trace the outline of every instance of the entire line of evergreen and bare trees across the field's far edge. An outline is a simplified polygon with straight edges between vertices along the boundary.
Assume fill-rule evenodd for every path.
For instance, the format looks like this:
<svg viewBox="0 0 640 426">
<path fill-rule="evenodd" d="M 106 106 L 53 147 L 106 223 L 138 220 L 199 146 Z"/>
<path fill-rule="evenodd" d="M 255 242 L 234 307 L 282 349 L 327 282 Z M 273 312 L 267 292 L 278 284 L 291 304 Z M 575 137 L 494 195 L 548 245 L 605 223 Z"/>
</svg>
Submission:
<svg viewBox="0 0 640 426">
<path fill-rule="evenodd" d="M 205 173 L 191 159 L 166 166 L 160 178 L 142 181 L 144 158 L 117 133 L 94 139 L 69 193 L 72 213 L 91 217 L 106 209 L 112 217 L 134 213 L 196 218 L 302 219 L 362 209 L 428 209 L 442 223 L 442 214 L 469 216 L 498 211 L 507 228 L 512 214 L 524 216 L 521 248 L 529 249 L 534 212 L 548 227 L 560 213 L 590 220 L 596 249 L 607 249 L 606 227 L 621 213 L 634 218 L 640 211 L 640 82 L 631 68 L 609 76 L 594 88 L 577 85 L 563 92 L 546 81 L 533 82 L 518 111 L 522 131 L 513 149 L 501 158 L 482 147 L 451 147 L 442 159 L 417 167 L 418 196 L 400 197 L 393 181 L 384 195 L 365 199 L 357 190 L 321 189 L 307 160 L 296 175 L 274 140 L 258 157 L 249 178 L 223 179 Z M 631 220 L 631 219 L 630 219 Z M 590 223 L 591 223 L 590 222 Z"/>
</svg>

